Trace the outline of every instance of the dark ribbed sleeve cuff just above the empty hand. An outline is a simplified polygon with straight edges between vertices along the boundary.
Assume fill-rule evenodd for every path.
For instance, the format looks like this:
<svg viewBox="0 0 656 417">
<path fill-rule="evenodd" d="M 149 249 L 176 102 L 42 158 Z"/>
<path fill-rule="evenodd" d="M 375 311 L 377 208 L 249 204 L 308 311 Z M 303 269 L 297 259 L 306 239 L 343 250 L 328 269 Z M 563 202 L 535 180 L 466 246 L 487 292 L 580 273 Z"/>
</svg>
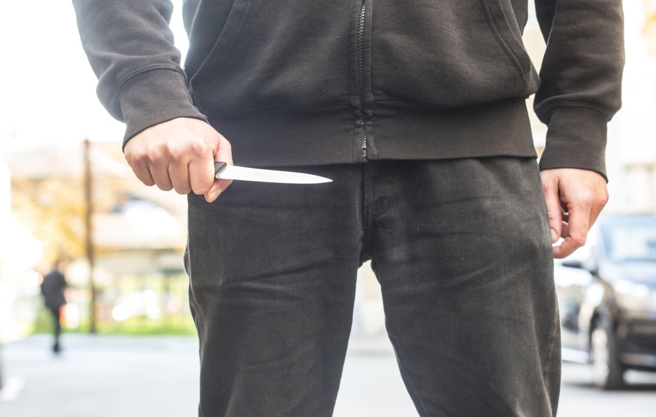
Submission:
<svg viewBox="0 0 656 417">
<path fill-rule="evenodd" d="M 552 110 L 540 169 L 577 168 L 602 174 L 606 181 L 606 117 L 594 109 Z"/>
</svg>

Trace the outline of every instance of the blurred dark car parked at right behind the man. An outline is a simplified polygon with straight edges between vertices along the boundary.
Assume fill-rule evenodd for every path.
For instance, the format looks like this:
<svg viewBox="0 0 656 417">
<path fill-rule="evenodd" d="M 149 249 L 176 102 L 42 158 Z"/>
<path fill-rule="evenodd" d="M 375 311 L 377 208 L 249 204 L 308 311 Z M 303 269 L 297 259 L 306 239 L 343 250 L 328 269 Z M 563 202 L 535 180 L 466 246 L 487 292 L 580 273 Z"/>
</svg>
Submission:
<svg viewBox="0 0 656 417">
<path fill-rule="evenodd" d="M 565 361 L 590 363 L 605 389 L 626 369 L 656 372 L 655 215 L 600 218 L 554 275 Z"/>
</svg>

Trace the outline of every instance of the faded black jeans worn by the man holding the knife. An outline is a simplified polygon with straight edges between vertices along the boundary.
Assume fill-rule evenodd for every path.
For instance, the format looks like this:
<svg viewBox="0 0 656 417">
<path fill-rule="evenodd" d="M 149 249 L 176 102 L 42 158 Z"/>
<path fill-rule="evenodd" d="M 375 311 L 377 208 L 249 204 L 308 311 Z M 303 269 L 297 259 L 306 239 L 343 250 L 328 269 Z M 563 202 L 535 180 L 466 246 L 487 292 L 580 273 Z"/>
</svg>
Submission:
<svg viewBox="0 0 656 417">
<path fill-rule="evenodd" d="M 560 330 L 535 160 L 296 170 L 333 182 L 189 196 L 200 416 L 330 416 L 367 259 L 420 416 L 556 414 Z"/>
</svg>

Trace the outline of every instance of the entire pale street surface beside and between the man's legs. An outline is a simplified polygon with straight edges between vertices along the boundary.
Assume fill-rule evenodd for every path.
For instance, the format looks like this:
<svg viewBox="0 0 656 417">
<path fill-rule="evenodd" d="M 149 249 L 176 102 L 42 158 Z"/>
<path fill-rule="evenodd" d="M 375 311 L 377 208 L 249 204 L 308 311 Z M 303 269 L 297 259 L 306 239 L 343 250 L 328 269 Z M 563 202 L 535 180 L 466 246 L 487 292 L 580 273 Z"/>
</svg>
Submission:
<svg viewBox="0 0 656 417">
<path fill-rule="evenodd" d="M 176 336 L 64 335 L 4 346 L 1 417 L 184 417 L 196 415 L 197 342 Z M 630 389 L 600 391 L 587 367 L 565 364 L 560 417 L 654 417 L 656 374 L 630 372 Z M 414 417 L 417 412 L 386 340 L 350 345 L 335 417 Z"/>
</svg>

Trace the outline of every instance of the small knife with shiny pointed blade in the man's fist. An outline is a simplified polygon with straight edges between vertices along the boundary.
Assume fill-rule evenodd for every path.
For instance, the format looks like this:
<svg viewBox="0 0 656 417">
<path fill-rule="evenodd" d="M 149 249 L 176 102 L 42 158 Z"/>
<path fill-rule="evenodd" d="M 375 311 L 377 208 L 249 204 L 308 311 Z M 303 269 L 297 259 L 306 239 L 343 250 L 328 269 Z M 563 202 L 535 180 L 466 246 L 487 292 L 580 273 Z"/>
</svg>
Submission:
<svg viewBox="0 0 656 417">
<path fill-rule="evenodd" d="M 323 176 L 304 174 L 302 172 L 235 167 L 234 165 L 228 165 L 220 161 L 214 163 L 214 176 L 215 178 L 225 178 L 227 180 L 281 182 L 284 184 L 321 184 L 322 182 L 333 181 L 323 178 Z"/>
</svg>

